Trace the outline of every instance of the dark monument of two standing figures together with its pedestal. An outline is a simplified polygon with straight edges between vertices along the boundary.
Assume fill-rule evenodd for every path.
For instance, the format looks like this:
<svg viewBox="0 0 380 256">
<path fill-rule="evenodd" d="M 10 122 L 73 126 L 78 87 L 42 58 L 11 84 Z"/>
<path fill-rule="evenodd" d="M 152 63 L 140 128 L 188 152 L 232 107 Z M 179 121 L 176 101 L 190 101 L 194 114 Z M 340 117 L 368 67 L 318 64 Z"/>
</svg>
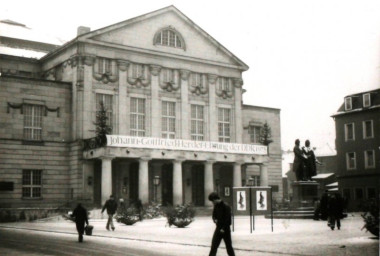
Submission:
<svg viewBox="0 0 380 256">
<path fill-rule="evenodd" d="M 316 181 L 311 177 L 317 175 L 317 164 L 320 164 L 315 157 L 313 149 L 310 147 L 310 141 L 305 141 L 305 146 L 300 147 L 300 140 L 296 139 L 293 148 L 294 162 L 293 172 L 296 181 L 293 182 L 293 198 L 291 201 L 292 208 L 311 207 L 318 198 L 318 186 Z"/>
</svg>

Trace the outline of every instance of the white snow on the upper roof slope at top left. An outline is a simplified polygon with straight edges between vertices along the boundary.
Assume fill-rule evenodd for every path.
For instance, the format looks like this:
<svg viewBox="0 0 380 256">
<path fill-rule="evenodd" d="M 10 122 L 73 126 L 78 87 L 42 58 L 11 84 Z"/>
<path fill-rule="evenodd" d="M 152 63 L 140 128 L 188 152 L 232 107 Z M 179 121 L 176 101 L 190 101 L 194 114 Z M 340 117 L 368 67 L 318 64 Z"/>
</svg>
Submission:
<svg viewBox="0 0 380 256">
<path fill-rule="evenodd" d="M 0 21 L 0 35 L 3 37 L 17 38 L 53 45 L 62 45 L 66 42 L 58 37 L 28 28 L 26 25 L 12 20 Z"/>
</svg>

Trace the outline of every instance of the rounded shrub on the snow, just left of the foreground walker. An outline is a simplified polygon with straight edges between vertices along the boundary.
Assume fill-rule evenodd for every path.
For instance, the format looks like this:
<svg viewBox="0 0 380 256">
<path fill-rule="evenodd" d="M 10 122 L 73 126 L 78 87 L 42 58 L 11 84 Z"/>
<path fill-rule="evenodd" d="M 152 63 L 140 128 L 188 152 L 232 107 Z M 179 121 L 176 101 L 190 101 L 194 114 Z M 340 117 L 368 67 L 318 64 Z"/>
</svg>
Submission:
<svg viewBox="0 0 380 256">
<path fill-rule="evenodd" d="M 169 206 L 165 210 L 168 225 L 184 228 L 194 221 L 195 210 L 191 205 Z"/>
</svg>

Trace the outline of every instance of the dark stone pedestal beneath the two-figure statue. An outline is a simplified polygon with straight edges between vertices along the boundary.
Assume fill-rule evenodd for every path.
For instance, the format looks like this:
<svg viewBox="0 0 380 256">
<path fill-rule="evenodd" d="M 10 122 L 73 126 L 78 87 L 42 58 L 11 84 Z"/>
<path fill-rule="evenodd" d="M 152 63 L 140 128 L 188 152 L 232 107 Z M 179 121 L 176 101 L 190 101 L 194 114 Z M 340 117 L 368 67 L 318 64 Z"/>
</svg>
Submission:
<svg viewBox="0 0 380 256">
<path fill-rule="evenodd" d="M 295 181 L 292 184 L 293 198 L 291 208 L 313 207 L 318 199 L 319 184 L 316 181 Z"/>
</svg>

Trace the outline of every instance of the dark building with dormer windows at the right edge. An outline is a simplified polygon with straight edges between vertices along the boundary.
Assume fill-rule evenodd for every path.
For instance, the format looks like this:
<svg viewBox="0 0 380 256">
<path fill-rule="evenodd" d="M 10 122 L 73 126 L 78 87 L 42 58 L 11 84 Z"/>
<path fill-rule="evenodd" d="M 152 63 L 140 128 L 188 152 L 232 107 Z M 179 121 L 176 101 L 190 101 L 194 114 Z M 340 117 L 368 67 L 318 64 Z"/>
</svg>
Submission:
<svg viewBox="0 0 380 256">
<path fill-rule="evenodd" d="M 335 120 L 339 191 L 349 210 L 379 198 L 380 89 L 348 95 Z"/>
</svg>

